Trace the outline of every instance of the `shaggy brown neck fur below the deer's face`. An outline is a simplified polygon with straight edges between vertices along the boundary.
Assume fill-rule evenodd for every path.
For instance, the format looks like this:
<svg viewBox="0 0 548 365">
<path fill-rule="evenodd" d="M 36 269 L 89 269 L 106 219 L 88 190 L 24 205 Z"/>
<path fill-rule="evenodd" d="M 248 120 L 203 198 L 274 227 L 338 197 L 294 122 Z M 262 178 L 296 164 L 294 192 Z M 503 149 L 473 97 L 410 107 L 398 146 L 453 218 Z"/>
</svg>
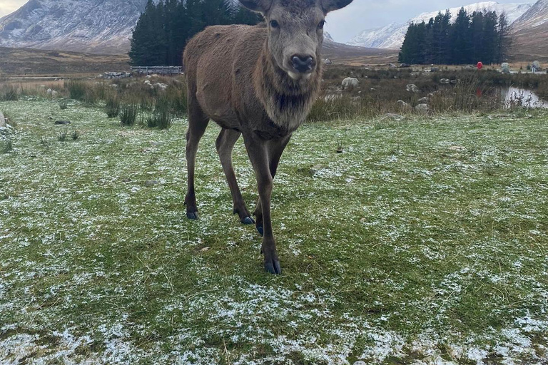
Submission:
<svg viewBox="0 0 548 365">
<path fill-rule="evenodd" d="M 255 67 L 255 94 L 263 103 L 268 117 L 280 128 L 293 132 L 305 121 L 320 91 L 322 63 L 307 79 L 293 80 L 275 63 L 265 41 Z"/>
</svg>

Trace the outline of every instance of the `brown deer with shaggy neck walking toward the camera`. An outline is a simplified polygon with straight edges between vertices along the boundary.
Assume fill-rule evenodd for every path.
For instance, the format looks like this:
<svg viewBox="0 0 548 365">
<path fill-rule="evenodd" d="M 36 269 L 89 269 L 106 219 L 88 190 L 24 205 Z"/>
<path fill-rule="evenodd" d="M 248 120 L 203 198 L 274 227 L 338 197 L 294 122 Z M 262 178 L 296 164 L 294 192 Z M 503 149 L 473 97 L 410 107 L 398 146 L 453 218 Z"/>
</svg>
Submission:
<svg viewBox="0 0 548 365">
<path fill-rule="evenodd" d="M 198 143 L 210 120 L 233 213 L 263 237 L 261 254 L 270 274 L 282 269 L 270 212 L 273 179 L 293 132 L 320 93 L 325 16 L 352 0 L 239 0 L 264 21 L 255 26 L 208 26 L 183 53 L 188 88 L 186 217 L 198 220 L 195 168 Z M 233 169 L 233 147 L 243 143 L 255 172 L 258 202 L 250 214 Z"/>
</svg>

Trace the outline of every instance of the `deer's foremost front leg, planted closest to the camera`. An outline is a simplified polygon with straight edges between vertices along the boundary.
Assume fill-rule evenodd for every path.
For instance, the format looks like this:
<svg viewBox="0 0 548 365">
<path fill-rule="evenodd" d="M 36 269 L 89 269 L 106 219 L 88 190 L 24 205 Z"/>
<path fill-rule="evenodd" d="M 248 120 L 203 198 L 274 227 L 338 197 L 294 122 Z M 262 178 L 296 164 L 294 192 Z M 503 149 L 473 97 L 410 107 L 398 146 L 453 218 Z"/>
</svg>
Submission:
<svg viewBox="0 0 548 365">
<path fill-rule="evenodd" d="M 263 245 L 261 245 L 261 251 L 265 255 L 265 270 L 270 272 L 270 274 L 281 274 L 282 269 L 270 217 L 270 196 L 272 195 L 273 176 L 270 173 L 269 141 L 261 140 L 251 133 L 251 135 L 244 135 L 244 142 L 253 165 L 253 170 L 255 170 L 255 178 L 257 178 L 263 222 Z"/>
</svg>

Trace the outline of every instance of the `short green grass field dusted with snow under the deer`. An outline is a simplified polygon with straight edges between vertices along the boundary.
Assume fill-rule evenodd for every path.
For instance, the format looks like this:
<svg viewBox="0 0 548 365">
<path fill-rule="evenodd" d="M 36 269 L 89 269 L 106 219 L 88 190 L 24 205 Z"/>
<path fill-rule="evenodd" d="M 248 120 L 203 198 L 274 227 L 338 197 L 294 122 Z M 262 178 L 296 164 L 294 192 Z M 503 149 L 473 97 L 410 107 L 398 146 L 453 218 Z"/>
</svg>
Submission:
<svg viewBox="0 0 548 365">
<path fill-rule="evenodd" d="M 275 277 L 232 215 L 215 125 L 191 222 L 186 120 L 0 110 L 2 364 L 548 361 L 547 111 L 303 125 L 275 179 Z M 234 160 L 253 209 L 241 140 Z"/>
</svg>

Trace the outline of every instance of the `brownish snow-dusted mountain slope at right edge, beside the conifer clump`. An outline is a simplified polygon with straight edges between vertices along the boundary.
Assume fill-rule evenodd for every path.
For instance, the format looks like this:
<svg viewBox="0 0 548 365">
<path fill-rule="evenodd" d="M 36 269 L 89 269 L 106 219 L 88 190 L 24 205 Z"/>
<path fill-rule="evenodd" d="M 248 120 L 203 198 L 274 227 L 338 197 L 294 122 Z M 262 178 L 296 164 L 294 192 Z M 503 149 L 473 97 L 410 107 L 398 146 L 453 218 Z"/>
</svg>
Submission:
<svg viewBox="0 0 548 365">
<path fill-rule="evenodd" d="M 510 27 L 512 58 L 548 60 L 548 0 L 539 0 Z"/>
</svg>

